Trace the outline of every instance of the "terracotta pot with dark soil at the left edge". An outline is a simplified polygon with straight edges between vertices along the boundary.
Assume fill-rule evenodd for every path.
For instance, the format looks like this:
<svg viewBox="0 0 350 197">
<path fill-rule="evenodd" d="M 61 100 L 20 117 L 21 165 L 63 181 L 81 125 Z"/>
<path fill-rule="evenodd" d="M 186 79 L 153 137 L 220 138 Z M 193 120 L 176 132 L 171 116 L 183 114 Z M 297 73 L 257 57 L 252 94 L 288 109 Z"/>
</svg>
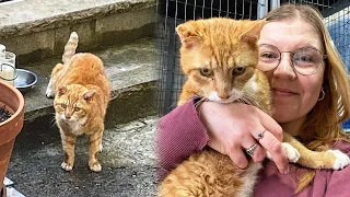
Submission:
<svg viewBox="0 0 350 197">
<path fill-rule="evenodd" d="M 8 171 L 15 137 L 22 130 L 24 99 L 21 92 L 0 80 L 0 107 L 10 116 L 0 121 L 0 197 L 5 196 L 3 179 Z"/>
</svg>

